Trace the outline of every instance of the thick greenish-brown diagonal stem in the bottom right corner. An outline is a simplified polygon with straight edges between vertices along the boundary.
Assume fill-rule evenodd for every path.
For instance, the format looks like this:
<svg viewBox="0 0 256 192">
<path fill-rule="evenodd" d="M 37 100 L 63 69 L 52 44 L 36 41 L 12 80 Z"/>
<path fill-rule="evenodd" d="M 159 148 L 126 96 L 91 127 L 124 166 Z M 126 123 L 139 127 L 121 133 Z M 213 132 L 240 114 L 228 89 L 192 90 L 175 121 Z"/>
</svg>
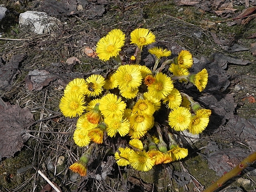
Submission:
<svg viewBox="0 0 256 192">
<path fill-rule="evenodd" d="M 242 160 L 235 168 L 225 173 L 220 179 L 218 179 L 216 182 L 210 185 L 203 192 L 214 192 L 218 188 L 222 187 L 227 180 L 238 175 L 242 170 L 244 170 L 250 163 L 254 162 L 255 160 L 256 160 L 256 152 L 254 152 L 253 154 L 249 155 L 247 158 Z"/>
</svg>

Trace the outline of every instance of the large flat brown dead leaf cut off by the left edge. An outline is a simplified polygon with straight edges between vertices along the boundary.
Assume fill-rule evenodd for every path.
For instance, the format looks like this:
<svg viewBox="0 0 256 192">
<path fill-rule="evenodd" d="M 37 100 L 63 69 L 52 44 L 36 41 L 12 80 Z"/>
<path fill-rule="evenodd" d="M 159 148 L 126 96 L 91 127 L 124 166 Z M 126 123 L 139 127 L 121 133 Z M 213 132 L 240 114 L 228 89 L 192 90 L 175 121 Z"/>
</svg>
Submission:
<svg viewBox="0 0 256 192">
<path fill-rule="evenodd" d="M 30 134 L 25 131 L 33 123 L 29 109 L 22 109 L 9 102 L 0 104 L 0 160 L 13 156 L 24 146 Z"/>
</svg>

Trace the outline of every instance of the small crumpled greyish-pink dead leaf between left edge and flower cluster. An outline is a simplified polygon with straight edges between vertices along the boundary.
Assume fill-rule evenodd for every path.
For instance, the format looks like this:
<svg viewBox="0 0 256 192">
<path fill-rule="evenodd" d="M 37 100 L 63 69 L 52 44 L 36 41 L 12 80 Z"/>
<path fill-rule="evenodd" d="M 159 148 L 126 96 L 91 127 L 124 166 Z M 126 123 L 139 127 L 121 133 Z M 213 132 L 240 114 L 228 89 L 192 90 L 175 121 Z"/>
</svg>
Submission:
<svg viewBox="0 0 256 192">
<path fill-rule="evenodd" d="M 29 75 L 25 78 L 25 83 L 28 90 L 38 91 L 56 79 L 57 77 L 55 75 L 52 75 L 46 70 L 35 69 L 29 72 Z"/>
</svg>

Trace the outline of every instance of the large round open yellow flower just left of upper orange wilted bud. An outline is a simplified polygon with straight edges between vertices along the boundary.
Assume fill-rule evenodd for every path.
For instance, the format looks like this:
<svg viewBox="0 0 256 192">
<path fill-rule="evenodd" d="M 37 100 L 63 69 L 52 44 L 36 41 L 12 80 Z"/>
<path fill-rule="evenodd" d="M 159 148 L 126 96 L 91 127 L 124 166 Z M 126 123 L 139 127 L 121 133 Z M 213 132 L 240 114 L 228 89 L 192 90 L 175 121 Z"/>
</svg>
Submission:
<svg viewBox="0 0 256 192">
<path fill-rule="evenodd" d="M 116 78 L 121 90 L 138 88 L 142 81 L 140 70 L 133 64 L 125 64 L 118 67 Z"/>
</svg>

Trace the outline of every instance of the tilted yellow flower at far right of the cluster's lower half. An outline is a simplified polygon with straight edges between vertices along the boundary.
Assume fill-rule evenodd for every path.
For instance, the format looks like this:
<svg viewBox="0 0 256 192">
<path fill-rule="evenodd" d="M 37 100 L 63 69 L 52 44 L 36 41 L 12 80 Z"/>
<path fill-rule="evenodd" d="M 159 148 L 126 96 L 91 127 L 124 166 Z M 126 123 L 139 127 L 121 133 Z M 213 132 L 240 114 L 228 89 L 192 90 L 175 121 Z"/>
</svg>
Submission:
<svg viewBox="0 0 256 192">
<path fill-rule="evenodd" d="M 205 111 L 205 109 L 197 110 L 195 115 L 192 116 L 192 119 L 188 128 L 189 131 L 193 134 L 201 133 L 209 123 L 209 116 L 210 115 Z"/>
</svg>

